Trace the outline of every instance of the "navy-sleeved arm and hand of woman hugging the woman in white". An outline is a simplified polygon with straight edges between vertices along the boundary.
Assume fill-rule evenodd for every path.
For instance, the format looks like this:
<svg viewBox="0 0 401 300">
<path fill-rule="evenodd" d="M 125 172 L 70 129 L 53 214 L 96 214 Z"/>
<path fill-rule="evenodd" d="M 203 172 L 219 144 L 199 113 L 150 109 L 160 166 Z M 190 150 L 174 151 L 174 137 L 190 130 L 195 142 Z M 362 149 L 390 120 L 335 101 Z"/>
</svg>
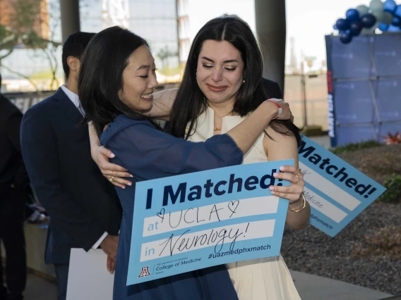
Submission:
<svg viewBox="0 0 401 300">
<path fill-rule="evenodd" d="M 190 142 L 168 135 L 147 120 L 121 117 L 120 126 L 102 136 L 102 144 L 134 177 L 142 180 L 187 174 L 241 164 L 244 153 L 278 113 L 276 104 L 265 101 L 244 122 L 227 134 L 205 142 Z M 289 108 L 285 109 L 289 118 Z M 120 129 L 119 129 L 120 128 Z M 114 181 L 114 180 L 113 180 Z"/>
</svg>

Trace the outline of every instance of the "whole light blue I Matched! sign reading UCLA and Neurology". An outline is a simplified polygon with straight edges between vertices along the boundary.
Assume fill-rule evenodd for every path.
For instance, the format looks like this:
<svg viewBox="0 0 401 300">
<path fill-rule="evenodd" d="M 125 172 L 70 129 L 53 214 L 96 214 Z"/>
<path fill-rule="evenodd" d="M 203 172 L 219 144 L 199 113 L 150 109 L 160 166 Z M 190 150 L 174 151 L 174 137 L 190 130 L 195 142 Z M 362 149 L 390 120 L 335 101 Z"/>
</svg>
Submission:
<svg viewBox="0 0 401 300">
<path fill-rule="evenodd" d="M 270 185 L 293 160 L 253 163 L 136 184 L 127 285 L 280 255 L 288 200 Z"/>
</svg>

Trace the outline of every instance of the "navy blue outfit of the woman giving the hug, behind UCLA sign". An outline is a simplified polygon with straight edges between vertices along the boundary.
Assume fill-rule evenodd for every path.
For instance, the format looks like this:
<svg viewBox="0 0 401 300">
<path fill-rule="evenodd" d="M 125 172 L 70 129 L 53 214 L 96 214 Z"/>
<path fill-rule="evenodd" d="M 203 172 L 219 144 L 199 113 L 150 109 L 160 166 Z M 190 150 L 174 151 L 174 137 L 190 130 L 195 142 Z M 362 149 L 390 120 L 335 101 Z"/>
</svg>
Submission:
<svg viewBox="0 0 401 300">
<path fill-rule="evenodd" d="M 113 162 L 132 175 L 132 187 L 117 188 L 123 218 L 114 275 L 114 300 L 238 300 L 225 265 L 164 277 L 127 287 L 136 182 L 239 165 L 243 154 L 229 135 L 194 143 L 156 130 L 147 120 L 119 115 L 101 135 Z"/>
</svg>

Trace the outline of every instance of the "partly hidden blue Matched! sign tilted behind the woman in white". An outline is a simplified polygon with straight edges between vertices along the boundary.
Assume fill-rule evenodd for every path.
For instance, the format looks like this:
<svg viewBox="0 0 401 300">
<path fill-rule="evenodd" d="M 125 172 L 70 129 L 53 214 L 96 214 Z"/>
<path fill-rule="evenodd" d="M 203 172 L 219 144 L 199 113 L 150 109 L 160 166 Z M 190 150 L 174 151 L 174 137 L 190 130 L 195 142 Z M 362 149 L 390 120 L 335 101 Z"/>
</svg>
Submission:
<svg viewBox="0 0 401 300">
<path fill-rule="evenodd" d="M 298 149 L 304 195 L 311 205 L 309 223 L 334 237 L 385 188 L 307 137 Z"/>
</svg>

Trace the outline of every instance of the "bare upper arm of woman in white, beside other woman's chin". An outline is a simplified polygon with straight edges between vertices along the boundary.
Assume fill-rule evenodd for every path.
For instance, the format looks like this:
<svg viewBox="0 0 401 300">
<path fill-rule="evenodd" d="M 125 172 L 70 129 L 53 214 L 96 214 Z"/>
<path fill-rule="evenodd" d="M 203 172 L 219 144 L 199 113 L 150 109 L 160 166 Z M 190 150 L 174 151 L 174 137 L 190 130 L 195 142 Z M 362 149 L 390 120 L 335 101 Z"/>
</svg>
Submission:
<svg viewBox="0 0 401 300">
<path fill-rule="evenodd" d="M 177 91 L 178 89 L 164 89 L 153 94 L 153 106 L 150 111 L 144 114 L 157 120 L 168 121 Z"/>
</svg>

